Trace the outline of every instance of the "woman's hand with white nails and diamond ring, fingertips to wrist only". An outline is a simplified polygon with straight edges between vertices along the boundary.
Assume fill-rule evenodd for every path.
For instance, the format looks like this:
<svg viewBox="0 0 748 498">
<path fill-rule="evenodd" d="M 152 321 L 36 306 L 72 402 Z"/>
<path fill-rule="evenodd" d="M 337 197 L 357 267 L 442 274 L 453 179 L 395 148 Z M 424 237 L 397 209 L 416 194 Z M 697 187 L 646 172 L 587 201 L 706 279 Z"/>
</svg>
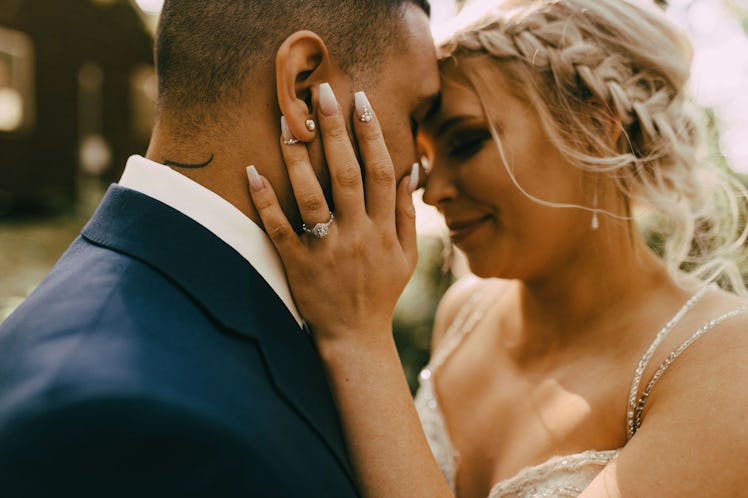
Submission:
<svg viewBox="0 0 748 498">
<path fill-rule="evenodd" d="M 248 168 L 250 192 L 315 341 L 366 344 L 383 339 L 372 335 L 391 331 L 395 303 L 418 258 L 411 196 L 418 169 L 414 165 L 411 176 L 396 185 L 376 116 L 353 120 L 362 168 L 348 136 L 346 117 L 329 85 L 320 87 L 320 100 L 325 97 L 328 105 L 321 105 L 318 120 L 335 204 L 327 236 L 299 235 L 268 181 L 253 167 Z M 365 107 L 373 114 L 363 94 L 357 95 L 356 102 L 356 118 Z M 327 222 L 331 212 L 306 146 L 289 145 L 281 137 L 281 149 L 305 225 Z"/>
</svg>

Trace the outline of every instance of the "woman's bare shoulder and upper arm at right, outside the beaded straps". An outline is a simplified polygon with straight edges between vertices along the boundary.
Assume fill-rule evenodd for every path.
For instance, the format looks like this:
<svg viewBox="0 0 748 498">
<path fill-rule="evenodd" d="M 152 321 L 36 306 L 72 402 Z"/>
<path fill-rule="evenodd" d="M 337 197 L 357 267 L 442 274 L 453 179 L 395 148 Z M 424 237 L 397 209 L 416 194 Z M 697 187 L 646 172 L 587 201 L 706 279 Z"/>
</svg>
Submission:
<svg viewBox="0 0 748 498">
<path fill-rule="evenodd" d="M 700 304 L 708 332 L 671 360 L 641 428 L 582 497 L 745 495 L 748 301 L 716 291 Z"/>
</svg>

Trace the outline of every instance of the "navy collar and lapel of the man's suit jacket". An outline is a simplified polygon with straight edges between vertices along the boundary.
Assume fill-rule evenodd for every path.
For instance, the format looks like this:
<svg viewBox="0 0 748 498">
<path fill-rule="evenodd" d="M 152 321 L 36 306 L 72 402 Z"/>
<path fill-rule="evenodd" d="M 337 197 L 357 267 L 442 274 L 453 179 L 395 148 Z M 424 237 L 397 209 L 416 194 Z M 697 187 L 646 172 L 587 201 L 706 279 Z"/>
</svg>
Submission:
<svg viewBox="0 0 748 498">
<path fill-rule="evenodd" d="M 314 345 L 241 255 L 191 218 L 118 185 L 110 187 L 82 236 L 148 264 L 225 328 L 257 341 L 281 397 L 318 433 L 354 481 Z"/>
</svg>

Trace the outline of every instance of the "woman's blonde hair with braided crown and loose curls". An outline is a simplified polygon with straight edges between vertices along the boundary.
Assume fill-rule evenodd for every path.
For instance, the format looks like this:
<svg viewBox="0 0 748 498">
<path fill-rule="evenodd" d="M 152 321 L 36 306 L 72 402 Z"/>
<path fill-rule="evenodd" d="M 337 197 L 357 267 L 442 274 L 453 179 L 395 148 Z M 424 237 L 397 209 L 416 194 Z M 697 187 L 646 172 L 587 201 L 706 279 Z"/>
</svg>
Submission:
<svg viewBox="0 0 748 498">
<path fill-rule="evenodd" d="M 657 213 L 649 238 L 664 241 L 662 257 L 674 278 L 686 269 L 746 294 L 739 269 L 745 187 L 705 154 L 703 113 L 686 89 L 693 51 L 685 33 L 658 7 L 635 0 L 478 3 L 465 9 L 440 49 L 457 64 L 493 61 L 461 70 L 489 121 L 500 105 L 490 99 L 491 76 L 498 76 L 535 110 L 571 164 L 609 175 L 627 199 Z M 617 141 L 611 126 L 618 127 Z M 494 139 L 502 151 L 495 130 Z"/>
</svg>

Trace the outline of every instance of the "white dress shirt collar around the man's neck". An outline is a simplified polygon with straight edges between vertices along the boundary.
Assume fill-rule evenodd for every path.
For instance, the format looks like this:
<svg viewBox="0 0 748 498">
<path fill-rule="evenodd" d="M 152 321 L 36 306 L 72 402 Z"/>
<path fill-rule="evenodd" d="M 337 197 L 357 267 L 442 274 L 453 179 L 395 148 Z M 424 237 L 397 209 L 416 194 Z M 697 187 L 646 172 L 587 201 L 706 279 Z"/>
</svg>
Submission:
<svg viewBox="0 0 748 498">
<path fill-rule="evenodd" d="M 273 243 L 233 204 L 168 166 L 142 156 L 130 157 L 119 184 L 171 206 L 231 246 L 262 275 L 299 326 L 303 326 Z"/>
</svg>

